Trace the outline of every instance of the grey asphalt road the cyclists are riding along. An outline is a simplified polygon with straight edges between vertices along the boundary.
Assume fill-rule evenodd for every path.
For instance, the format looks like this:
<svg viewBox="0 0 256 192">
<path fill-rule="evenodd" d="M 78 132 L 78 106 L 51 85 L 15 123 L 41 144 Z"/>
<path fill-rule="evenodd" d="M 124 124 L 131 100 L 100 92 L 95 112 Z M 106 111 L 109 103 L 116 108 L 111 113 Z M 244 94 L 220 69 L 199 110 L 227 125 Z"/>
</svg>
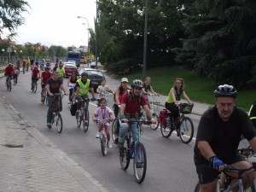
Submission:
<svg viewBox="0 0 256 192">
<path fill-rule="evenodd" d="M 113 90 L 117 87 L 116 81 L 107 78 L 107 84 Z M 89 130 L 77 128 L 76 120 L 70 115 L 67 96 L 63 99 L 63 131 L 59 134 L 56 128 L 49 130 L 46 127 L 47 107 L 40 102 L 39 91 L 32 93 L 31 73 L 20 74 L 19 83 L 8 92 L 0 80 L 0 91 L 8 101 L 22 114 L 45 138 L 64 151 L 93 177 L 113 192 L 155 192 L 155 191 L 192 191 L 197 181 L 193 163 L 193 148 L 195 140 L 189 144 L 181 143 L 175 134 L 168 139 L 161 136 L 160 130 L 153 131 L 144 126 L 143 137 L 147 151 L 148 169 L 144 182 L 137 184 L 133 177 L 132 164 L 126 172 L 119 166 L 119 150 L 113 144 L 108 149 L 108 155 L 103 157 L 100 142 L 96 139 L 96 124 L 90 120 Z M 64 79 L 67 85 L 67 79 Z M 67 87 L 67 86 L 66 86 Z M 39 88 L 39 90 L 41 90 Z M 108 106 L 112 108 L 113 96 L 108 99 Z M 96 108 L 96 102 L 90 103 L 90 116 Z M 161 108 L 159 107 L 158 110 Z M 190 114 L 197 129 L 199 116 Z M 55 179 L 55 178 L 53 178 Z"/>
</svg>

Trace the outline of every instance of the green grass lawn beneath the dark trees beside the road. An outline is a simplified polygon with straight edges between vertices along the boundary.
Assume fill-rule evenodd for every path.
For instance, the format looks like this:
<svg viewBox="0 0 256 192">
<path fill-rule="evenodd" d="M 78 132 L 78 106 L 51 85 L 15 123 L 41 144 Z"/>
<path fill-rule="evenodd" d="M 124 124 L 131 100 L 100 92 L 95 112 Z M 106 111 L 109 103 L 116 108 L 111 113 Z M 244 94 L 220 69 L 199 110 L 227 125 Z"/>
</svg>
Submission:
<svg viewBox="0 0 256 192">
<path fill-rule="evenodd" d="M 132 79 L 142 79 L 143 70 L 126 75 L 131 82 Z M 151 78 L 151 85 L 156 92 L 167 95 L 171 89 L 174 79 L 183 78 L 185 82 L 184 90 L 192 101 L 214 103 L 213 91 L 217 85 L 207 78 L 199 78 L 185 67 L 158 67 L 147 69 L 147 76 Z M 119 77 L 120 78 L 120 77 Z M 238 90 L 236 105 L 248 110 L 253 101 L 256 100 L 256 90 Z"/>
</svg>

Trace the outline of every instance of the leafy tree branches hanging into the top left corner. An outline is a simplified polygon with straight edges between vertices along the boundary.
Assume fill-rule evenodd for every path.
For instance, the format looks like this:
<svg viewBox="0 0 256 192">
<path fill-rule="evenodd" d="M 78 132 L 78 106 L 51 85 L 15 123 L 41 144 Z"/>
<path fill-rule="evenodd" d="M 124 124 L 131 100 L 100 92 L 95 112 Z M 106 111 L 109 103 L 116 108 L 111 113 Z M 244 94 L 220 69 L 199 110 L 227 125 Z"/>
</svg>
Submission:
<svg viewBox="0 0 256 192">
<path fill-rule="evenodd" d="M 16 36 L 15 29 L 25 22 L 21 14 L 27 12 L 27 7 L 30 7 L 29 4 L 23 0 L 0 0 L 0 39 L 3 29 L 9 30 L 8 38 Z"/>
</svg>

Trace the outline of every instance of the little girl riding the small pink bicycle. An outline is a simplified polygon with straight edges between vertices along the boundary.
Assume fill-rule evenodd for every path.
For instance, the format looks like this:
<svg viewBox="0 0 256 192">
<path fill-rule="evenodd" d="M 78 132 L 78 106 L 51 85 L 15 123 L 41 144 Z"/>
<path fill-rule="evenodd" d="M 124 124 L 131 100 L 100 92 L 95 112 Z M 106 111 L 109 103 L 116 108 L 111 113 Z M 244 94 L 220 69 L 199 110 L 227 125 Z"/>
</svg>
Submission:
<svg viewBox="0 0 256 192">
<path fill-rule="evenodd" d="M 101 131 L 103 126 L 105 126 L 105 131 L 108 138 L 108 148 L 112 148 L 112 144 L 110 143 L 110 134 L 109 134 L 109 120 L 113 121 L 115 119 L 113 110 L 108 108 L 107 106 L 107 99 L 101 98 L 99 100 L 100 107 L 96 108 L 95 112 L 93 113 L 92 120 L 96 122 L 98 120 L 98 131 L 96 133 L 96 138 L 100 137 Z"/>
</svg>

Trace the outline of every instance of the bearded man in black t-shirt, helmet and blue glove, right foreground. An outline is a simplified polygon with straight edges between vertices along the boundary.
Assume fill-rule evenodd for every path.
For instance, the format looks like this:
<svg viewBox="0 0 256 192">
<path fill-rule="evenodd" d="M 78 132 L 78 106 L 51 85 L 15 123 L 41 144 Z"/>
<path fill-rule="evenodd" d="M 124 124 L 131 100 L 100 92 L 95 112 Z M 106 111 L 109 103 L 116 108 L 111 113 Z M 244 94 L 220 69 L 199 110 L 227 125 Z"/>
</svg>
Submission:
<svg viewBox="0 0 256 192">
<path fill-rule="evenodd" d="M 215 105 L 201 116 L 194 148 L 201 192 L 216 191 L 218 175 L 224 170 L 224 164 L 238 168 L 251 166 L 244 157 L 237 154 L 236 149 L 243 135 L 253 151 L 256 151 L 256 131 L 247 113 L 236 108 L 236 95 L 236 89 L 232 85 L 219 85 L 214 91 Z M 237 176 L 234 172 L 226 174 Z M 253 182 L 253 178 L 253 174 L 243 175 L 246 186 Z M 232 182 L 236 182 L 236 179 Z"/>
</svg>

